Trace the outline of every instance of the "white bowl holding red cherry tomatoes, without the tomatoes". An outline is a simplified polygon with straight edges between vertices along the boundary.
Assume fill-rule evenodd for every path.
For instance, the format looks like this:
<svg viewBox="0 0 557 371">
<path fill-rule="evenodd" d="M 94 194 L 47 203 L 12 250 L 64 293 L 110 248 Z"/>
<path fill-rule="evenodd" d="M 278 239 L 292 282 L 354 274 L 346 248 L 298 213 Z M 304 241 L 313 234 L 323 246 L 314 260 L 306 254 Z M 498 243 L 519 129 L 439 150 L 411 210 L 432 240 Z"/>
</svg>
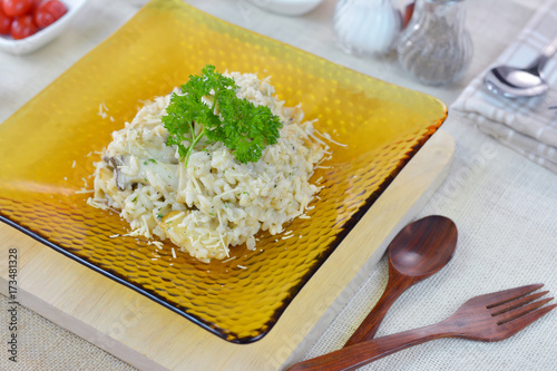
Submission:
<svg viewBox="0 0 557 371">
<path fill-rule="evenodd" d="M 0 50 L 11 52 L 12 55 L 25 55 L 42 48 L 60 36 L 71 20 L 84 8 L 87 0 L 62 0 L 62 2 L 68 11 L 59 20 L 21 40 L 13 40 L 11 37 L 0 36 Z"/>
</svg>

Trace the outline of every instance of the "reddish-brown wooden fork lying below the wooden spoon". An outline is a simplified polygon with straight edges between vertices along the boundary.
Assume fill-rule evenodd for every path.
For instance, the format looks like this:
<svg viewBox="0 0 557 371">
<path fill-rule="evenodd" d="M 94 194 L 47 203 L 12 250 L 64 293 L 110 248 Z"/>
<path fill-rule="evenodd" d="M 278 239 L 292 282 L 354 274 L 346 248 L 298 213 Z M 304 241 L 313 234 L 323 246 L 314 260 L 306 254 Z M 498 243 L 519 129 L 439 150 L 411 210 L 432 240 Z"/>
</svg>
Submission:
<svg viewBox="0 0 557 371">
<path fill-rule="evenodd" d="M 355 370 L 400 350 L 441 338 L 489 342 L 510 338 L 557 306 L 541 307 L 553 297 L 535 301 L 548 293 L 531 294 L 541 286 L 534 284 L 472 297 L 444 321 L 343 348 L 296 363 L 289 371 Z"/>
</svg>

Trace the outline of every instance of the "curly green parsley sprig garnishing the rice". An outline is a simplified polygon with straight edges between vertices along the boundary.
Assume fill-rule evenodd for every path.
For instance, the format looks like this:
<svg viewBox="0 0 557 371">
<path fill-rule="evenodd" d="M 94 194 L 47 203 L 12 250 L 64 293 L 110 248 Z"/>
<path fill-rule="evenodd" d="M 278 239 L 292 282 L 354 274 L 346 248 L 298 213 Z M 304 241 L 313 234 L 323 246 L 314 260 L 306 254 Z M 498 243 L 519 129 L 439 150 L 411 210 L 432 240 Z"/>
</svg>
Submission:
<svg viewBox="0 0 557 371">
<path fill-rule="evenodd" d="M 236 97 L 240 87 L 233 78 L 205 66 L 202 75 L 189 76 L 182 95 L 173 94 L 163 116 L 168 146 L 176 145 L 185 165 L 195 145 L 205 136 L 207 144 L 222 141 L 241 163 L 256 163 L 267 145 L 278 139 L 282 123 L 265 106 Z M 213 99 L 212 105 L 202 100 Z M 197 131 L 196 131 L 197 127 Z"/>
</svg>

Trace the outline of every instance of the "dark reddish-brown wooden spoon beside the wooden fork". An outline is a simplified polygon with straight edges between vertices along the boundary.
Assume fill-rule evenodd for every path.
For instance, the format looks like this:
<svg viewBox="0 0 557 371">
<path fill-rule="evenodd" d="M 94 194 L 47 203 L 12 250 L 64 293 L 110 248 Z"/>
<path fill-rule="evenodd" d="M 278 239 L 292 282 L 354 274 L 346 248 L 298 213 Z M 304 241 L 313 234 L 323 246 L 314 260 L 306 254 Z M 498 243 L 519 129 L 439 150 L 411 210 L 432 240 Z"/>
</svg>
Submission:
<svg viewBox="0 0 557 371">
<path fill-rule="evenodd" d="M 387 289 L 344 348 L 373 339 L 392 303 L 411 285 L 439 272 L 457 247 L 457 226 L 448 217 L 431 215 L 407 225 L 389 245 Z"/>
</svg>

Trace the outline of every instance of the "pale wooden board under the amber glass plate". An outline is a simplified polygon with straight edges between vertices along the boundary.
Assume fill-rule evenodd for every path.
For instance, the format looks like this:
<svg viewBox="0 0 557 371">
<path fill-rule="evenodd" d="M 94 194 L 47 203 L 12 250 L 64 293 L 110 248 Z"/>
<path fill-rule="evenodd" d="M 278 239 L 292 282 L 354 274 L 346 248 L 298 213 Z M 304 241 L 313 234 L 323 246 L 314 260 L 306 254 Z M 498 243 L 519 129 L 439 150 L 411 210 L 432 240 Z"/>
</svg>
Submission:
<svg viewBox="0 0 557 371">
<path fill-rule="evenodd" d="M 149 299 L 0 223 L 0 293 L 8 295 L 8 254 L 18 251 L 18 301 L 141 370 L 278 370 L 319 339 L 446 177 L 455 141 L 439 130 L 410 160 L 271 332 L 228 343 Z M 354 250 L 353 246 L 361 248 Z"/>
</svg>

